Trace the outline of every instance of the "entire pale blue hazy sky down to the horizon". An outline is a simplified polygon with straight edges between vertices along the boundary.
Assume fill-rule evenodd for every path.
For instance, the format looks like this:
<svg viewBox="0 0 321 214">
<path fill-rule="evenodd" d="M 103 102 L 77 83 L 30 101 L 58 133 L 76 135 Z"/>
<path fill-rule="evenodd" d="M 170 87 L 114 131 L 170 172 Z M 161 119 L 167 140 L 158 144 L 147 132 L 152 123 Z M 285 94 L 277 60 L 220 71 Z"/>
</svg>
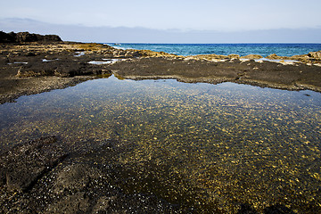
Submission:
<svg viewBox="0 0 321 214">
<path fill-rule="evenodd" d="M 288 42 L 321 43 L 320 9 L 320 0 L 12 0 L 0 2 L 0 30 L 84 42 L 177 43 L 179 37 L 185 43 L 209 43 L 210 37 L 211 43 L 286 42 L 289 37 Z"/>
</svg>

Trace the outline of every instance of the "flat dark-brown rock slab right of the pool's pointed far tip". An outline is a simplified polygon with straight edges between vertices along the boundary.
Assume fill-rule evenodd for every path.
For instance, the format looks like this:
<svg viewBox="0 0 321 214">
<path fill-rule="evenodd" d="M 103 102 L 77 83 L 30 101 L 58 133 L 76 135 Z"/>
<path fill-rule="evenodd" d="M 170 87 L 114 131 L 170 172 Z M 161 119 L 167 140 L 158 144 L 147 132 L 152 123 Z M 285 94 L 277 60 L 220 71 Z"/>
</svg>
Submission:
<svg viewBox="0 0 321 214">
<path fill-rule="evenodd" d="M 236 82 L 253 86 L 321 91 L 321 67 L 304 63 L 287 65 L 277 62 L 199 61 L 179 58 L 142 58 L 112 64 L 111 71 L 123 78 L 177 78 L 183 82 Z"/>
</svg>

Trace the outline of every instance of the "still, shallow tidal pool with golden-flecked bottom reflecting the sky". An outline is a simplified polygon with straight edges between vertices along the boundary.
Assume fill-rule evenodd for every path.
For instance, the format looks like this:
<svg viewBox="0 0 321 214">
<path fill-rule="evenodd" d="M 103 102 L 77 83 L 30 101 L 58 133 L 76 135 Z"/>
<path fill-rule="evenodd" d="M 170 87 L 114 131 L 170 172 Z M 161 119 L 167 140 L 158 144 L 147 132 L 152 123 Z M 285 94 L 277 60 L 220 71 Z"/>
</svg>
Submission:
<svg viewBox="0 0 321 214">
<path fill-rule="evenodd" d="M 321 94 L 101 78 L 0 105 L 1 146 L 115 139 L 127 193 L 204 212 L 321 210 Z"/>
</svg>

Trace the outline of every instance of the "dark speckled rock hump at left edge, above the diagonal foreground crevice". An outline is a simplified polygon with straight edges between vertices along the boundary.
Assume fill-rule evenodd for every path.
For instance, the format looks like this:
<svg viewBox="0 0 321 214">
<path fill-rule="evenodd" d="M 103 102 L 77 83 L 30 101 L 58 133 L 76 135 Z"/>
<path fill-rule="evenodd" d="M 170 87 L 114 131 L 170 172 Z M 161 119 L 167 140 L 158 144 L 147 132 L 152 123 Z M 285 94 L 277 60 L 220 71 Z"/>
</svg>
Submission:
<svg viewBox="0 0 321 214">
<path fill-rule="evenodd" d="M 56 141 L 54 136 L 44 137 L 4 152 L 0 157 L 0 185 L 8 191 L 29 191 L 67 156 Z"/>
</svg>

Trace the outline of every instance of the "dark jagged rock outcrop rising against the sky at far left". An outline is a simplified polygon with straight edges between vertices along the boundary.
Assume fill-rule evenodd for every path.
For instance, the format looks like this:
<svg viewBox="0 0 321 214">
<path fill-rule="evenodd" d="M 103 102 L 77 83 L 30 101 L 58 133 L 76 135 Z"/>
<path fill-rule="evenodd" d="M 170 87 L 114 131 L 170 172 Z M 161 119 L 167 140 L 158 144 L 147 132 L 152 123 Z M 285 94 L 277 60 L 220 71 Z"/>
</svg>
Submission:
<svg viewBox="0 0 321 214">
<path fill-rule="evenodd" d="M 5 33 L 0 31 L 0 43 L 24 43 L 24 42 L 62 42 L 57 35 L 40 35 L 29 32 Z"/>
</svg>

